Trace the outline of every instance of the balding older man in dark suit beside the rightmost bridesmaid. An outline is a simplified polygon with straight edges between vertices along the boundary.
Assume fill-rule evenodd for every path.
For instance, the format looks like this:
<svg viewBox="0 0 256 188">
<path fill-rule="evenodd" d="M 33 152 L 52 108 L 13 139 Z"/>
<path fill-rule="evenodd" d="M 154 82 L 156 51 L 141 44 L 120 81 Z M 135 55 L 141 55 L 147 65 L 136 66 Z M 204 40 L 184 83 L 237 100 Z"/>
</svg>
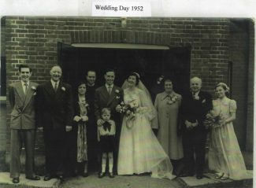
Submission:
<svg viewBox="0 0 256 188">
<path fill-rule="evenodd" d="M 212 97 L 201 90 L 202 80 L 198 77 L 192 78 L 190 84 L 191 92 L 184 94 L 181 105 L 184 163 L 187 167 L 181 176 L 193 176 L 196 172 L 196 178 L 202 179 L 207 135 L 203 121 L 206 113 L 213 109 Z"/>
</svg>

